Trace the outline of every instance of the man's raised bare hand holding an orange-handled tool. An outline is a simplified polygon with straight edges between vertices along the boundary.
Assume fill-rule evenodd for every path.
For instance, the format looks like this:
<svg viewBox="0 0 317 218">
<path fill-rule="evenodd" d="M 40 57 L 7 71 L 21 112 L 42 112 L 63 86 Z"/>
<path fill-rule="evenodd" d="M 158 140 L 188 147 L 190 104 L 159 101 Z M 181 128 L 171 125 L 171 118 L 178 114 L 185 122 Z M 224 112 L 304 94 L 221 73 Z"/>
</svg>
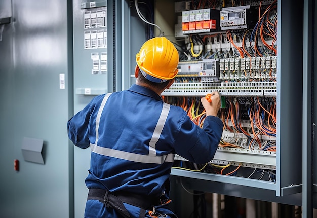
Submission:
<svg viewBox="0 0 317 218">
<path fill-rule="evenodd" d="M 210 99 L 207 99 L 209 98 Z M 203 107 L 206 110 L 206 116 L 212 115 L 217 116 L 218 111 L 221 106 L 221 97 L 218 92 L 212 92 L 211 94 L 208 94 L 208 97 L 202 97 L 201 102 L 203 104 Z"/>
</svg>

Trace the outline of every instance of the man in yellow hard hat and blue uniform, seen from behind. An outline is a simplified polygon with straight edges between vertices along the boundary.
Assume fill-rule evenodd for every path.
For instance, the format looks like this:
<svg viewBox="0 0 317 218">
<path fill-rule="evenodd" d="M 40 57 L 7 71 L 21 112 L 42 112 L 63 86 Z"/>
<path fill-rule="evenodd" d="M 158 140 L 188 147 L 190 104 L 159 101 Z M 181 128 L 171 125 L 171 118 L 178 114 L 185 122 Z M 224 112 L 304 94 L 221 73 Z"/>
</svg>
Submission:
<svg viewBox="0 0 317 218">
<path fill-rule="evenodd" d="M 165 37 L 146 41 L 136 55 L 136 84 L 96 96 L 68 121 L 75 146 L 92 151 L 85 217 L 176 217 L 166 206 L 175 153 L 195 163 L 213 159 L 223 128 L 219 94 L 212 93 L 211 103 L 201 99 L 203 129 L 160 97 L 178 61 Z"/>
</svg>

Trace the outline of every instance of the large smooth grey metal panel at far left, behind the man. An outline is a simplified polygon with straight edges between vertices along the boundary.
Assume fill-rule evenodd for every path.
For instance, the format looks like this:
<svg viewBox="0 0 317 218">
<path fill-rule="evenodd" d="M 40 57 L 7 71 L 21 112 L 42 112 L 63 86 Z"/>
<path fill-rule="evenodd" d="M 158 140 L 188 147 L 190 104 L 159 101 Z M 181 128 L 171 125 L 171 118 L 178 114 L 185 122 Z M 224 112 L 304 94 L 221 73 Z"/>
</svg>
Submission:
<svg viewBox="0 0 317 218">
<path fill-rule="evenodd" d="M 4 7 L 13 19 L 0 41 L 0 216 L 72 217 L 73 147 L 66 130 L 73 108 L 71 1 L 6 0 Z M 44 140 L 45 164 L 24 161 L 24 137 Z"/>
</svg>

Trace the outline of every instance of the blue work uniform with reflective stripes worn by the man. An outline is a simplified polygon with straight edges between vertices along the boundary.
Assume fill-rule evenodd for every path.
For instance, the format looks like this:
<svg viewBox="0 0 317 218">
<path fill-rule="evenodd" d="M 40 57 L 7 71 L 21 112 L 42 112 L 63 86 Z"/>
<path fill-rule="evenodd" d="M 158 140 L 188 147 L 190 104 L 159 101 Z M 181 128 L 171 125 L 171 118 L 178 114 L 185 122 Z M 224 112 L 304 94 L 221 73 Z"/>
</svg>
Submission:
<svg viewBox="0 0 317 218">
<path fill-rule="evenodd" d="M 209 162 L 223 123 L 207 116 L 202 129 L 183 108 L 164 103 L 154 91 L 134 84 L 125 91 L 94 97 L 68 121 L 67 129 L 75 146 L 91 148 L 89 189 L 168 198 L 175 154 L 194 163 Z M 138 207 L 124 205 L 131 217 L 139 217 Z M 98 200 L 88 200 L 85 217 L 120 216 Z"/>
</svg>

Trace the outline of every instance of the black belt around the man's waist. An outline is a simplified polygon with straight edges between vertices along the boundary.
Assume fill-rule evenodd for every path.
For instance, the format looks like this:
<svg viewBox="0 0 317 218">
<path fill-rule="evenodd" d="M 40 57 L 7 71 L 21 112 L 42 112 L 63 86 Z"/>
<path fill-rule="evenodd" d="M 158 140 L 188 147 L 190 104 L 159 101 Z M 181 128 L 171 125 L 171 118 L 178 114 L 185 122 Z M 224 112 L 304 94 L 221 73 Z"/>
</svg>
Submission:
<svg viewBox="0 0 317 218">
<path fill-rule="evenodd" d="M 122 215 L 125 215 L 125 217 L 130 217 L 130 215 L 123 202 L 140 207 L 144 210 L 152 210 L 153 206 L 160 204 L 158 198 L 152 198 L 147 195 L 139 195 L 124 191 L 110 193 L 108 190 L 104 189 L 89 189 L 87 200 L 98 200 L 107 207 L 112 207 Z"/>
</svg>

